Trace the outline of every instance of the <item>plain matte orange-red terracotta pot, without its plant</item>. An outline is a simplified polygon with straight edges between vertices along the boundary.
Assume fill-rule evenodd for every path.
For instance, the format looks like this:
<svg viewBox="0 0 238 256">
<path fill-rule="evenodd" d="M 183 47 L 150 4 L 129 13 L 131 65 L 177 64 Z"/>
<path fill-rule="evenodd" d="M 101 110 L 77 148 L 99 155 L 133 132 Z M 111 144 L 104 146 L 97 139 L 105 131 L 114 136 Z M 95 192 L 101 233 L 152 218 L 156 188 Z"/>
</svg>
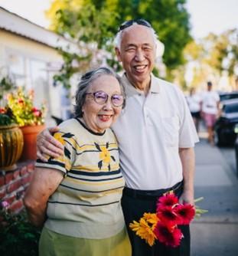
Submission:
<svg viewBox="0 0 238 256">
<path fill-rule="evenodd" d="M 24 147 L 20 161 L 37 159 L 37 134 L 44 130 L 45 125 L 38 126 L 22 126 L 20 127 L 24 138 Z"/>
</svg>

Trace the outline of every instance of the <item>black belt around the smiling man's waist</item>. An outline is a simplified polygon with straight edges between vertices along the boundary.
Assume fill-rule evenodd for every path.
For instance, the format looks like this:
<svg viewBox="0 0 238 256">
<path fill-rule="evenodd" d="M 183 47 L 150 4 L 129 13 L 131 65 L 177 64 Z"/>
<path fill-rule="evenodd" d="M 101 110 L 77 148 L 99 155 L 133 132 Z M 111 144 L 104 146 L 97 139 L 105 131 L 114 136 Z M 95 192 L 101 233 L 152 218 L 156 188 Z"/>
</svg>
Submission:
<svg viewBox="0 0 238 256">
<path fill-rule="evenodd" d="M 123 189 L 123 195 L 129 196 L 132 199 L 143 199 L 143 200 L 156 200 L 164 194 L 174 193 L 181 191 L 183 188 L 183 182 L 178 182 L 169 189 L 158 189 L 158 190 L 138 190 L 138 189 Z"/>
</svg>

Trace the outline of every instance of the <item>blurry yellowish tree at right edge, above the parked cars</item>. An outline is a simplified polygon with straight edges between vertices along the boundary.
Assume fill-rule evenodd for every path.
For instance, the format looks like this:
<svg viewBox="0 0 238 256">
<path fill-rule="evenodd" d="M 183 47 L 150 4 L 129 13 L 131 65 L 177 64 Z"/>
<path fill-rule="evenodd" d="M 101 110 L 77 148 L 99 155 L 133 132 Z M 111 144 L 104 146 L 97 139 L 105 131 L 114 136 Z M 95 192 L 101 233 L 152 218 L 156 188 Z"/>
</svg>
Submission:
<svg viewBox="0 0 238 256">
<path fill-rule="evenodd" d="M 238 29 L 231 29 L 220 35 L 210 33 L 201 41 L 188 44 L 184 53 L 187 61 L 194 62 L 194 79 L 191 85 L 201 86 L 205 84 L 207 77 L 215 77 L 218 81 L 223 74 L 226 74 L 233 89 L 236 89 L 237 42 Z"/>
</svg>

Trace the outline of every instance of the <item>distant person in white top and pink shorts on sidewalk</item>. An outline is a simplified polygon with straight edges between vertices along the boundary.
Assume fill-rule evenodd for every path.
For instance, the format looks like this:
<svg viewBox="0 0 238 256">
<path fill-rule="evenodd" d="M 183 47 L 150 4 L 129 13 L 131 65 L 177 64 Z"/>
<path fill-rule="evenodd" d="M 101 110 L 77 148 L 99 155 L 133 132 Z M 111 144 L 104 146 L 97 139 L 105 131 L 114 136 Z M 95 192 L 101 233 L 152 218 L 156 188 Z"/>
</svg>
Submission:
<svg viewBox="0 0 238 256">
<path fill-rule="evenodd" d="M 201 113 L 207 126 L 208 141 L 214 146 L 214 124 L 217 119 L 220 97 L 217 91 L 212 90 L 213 84 L 207 82 L 207 90 L 202 94 Z"/>
</svg>

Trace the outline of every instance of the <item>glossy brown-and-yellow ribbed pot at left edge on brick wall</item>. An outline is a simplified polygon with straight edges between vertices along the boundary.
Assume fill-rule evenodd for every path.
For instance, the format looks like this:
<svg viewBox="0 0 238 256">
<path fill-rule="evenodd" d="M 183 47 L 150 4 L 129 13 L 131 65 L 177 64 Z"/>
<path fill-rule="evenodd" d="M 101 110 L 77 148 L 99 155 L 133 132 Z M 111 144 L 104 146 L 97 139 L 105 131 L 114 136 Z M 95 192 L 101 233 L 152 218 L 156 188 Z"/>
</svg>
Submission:
<svg viewBox="0 0 238 256">
<path fill-rule="evenodd" d="M 17 168 L 23 149 L 23 134 L 17 124 L 0 126 L 0 170 Z"/>
</svg>

